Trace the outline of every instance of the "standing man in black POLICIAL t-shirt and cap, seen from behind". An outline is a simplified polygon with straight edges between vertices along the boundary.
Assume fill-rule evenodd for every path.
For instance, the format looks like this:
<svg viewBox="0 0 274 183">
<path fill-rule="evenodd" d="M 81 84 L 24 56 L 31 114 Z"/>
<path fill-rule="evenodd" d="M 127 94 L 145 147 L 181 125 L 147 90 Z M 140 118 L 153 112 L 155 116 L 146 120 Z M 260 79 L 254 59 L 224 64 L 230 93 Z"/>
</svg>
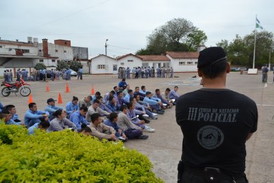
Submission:
<svg viewBox="0 0 274 183">
<path fill-rule="evenodd" d="M 197 67 L 203 88 L 176 104 L 184 134 L 178 182 L 245 183 L 245 142 L 257 130 L 256 103 L 225 88 L 230 66 L 221 47 L 200 51 Z"/>
</svg>

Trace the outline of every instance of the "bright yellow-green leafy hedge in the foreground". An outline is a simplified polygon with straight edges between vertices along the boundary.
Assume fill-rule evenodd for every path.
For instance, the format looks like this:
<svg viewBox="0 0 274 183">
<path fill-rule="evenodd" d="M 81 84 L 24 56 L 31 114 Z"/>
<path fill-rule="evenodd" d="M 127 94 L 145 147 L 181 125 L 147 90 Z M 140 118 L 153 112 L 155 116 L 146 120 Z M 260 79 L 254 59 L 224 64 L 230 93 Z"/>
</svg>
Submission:
<svg viewBox="0 0 274 183">
<path fill-rule="evenodd" d="M 15 125 L 0 124 L 0 132 L 0 182 L 163 182 L 147 156 L 123 143 L 69 130 L 29 136 Z"/>
</svg>

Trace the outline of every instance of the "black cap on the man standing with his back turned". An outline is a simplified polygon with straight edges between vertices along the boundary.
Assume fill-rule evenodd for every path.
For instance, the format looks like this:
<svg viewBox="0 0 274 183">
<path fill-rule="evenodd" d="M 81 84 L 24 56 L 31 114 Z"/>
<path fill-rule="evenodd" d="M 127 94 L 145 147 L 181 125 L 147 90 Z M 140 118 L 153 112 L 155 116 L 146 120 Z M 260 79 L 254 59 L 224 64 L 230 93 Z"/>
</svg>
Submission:
<svg viewBox="0 0 274 183">
<path fill-rule="evenodd" d="M 200 51 L 197 67 L 201 69 L 221 61 L 227 62 L 227 55 L 223 48 L 209 47 Z"/>
</svg>

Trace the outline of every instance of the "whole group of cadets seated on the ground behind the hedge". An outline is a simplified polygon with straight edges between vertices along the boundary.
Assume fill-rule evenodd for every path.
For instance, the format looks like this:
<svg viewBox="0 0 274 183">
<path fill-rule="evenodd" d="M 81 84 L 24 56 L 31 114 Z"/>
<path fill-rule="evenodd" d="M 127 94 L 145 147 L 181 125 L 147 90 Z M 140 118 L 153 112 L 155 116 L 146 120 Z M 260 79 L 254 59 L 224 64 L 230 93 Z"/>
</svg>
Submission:
<svg viewBox="0 0 274 183">
<path fill-rule="evenodd" d="M 34 133 L 34 129 L 47 130 L 48 132 L 61 131 L 70 128 L 75 132 L 81 132 L 110 141 L 127 141 L 127 139 L 140 138 L 147 139 L 145 132 L 155 132 L 146 123 L 149 119 L 158 119 L 155 114 L 164 114 L 164 109 L 172 108 L 178 87 L 174 90 L 166 88 L 162 97 L 160 90 L 156 89 L 155 94 L 147 91 L 145 86 L 135 87 L 131 90 L 129 84 L 125 84 L 125 90 L 114 86 L 114 90 L 101 97 L 101 93 L 84 97 L 78 100 L 73 99 L 66 103 L 66 108 L 55 106 L 55 100 L 47 99 L 47 106 L 44 111 L 38 110 L 36 103 L 29 103 L 29 110 L 25 113 L 24 122 L 18 119 L 15 106 L 3 107 L 1 118 L 5 119 L 7 125 L 24 125 L 29 129 L 29 134 Z M 171 95 L 173 93 L 173 95 Z M 175 93 L 175 94 L 174 94 Z M 123 97 L 124 95 L 124 97 Z M 167 97 L 166 97 L 167 96 Z"/>
</svg>

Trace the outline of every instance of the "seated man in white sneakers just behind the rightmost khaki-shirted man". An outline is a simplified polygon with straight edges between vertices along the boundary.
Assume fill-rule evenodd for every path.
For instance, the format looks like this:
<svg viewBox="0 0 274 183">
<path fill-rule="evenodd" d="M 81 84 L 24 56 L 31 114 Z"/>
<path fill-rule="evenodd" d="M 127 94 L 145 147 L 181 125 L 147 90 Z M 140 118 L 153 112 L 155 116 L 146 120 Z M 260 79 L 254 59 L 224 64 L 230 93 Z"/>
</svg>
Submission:
<svg viewBox="0 0 274 183">
<path fill-rule="evenodd" d="M 134 123 L 134 125 L 137 125 L 138 127 L 141 127 L 146 132 L 154 132 L 155 129 L 145 125 L 145 121 L 138 119 L 136 117 L 135 111 L 134 111 L 134 103 L 129 102 L 127 103 L 127 117 Z"/>
</svg>

